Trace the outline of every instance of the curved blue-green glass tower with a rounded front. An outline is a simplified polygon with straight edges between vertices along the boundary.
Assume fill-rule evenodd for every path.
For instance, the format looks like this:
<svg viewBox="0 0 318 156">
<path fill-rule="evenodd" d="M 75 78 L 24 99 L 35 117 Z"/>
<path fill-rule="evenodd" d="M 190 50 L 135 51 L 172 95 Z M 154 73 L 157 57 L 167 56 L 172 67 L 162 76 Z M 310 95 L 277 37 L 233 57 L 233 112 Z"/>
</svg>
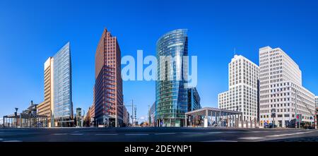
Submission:
<svg viewBox="0 0 318 156">
<path fill-rule="evenodd" d="M 157 126 L 184 126 L 185 113 L 192 98 L 187 88 L 187 30 L 167 32 L 157 44 L 158 80 L 155 84 L 155 119 Z M 162 59 L 166 57 L 168 59 Z M 169 59 L 171 57 L 171 59 Z M 184 64 L 186 63 L 186 64 Z M 194 95 L 194 94 L 193 94 Z"/>
</svg>

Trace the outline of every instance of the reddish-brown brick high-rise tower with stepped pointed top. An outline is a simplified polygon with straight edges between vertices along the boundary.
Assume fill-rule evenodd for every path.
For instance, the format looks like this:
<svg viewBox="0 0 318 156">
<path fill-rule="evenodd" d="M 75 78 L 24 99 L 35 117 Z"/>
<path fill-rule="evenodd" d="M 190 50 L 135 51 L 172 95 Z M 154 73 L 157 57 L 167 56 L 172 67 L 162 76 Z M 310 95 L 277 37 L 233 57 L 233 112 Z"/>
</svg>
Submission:
<svg viewBox="0 0 318 156">
<path fill-rule="evenodd" d="M 121 52 L 117 37 L 102 32 L 95 53 L 95 123 L 104 126 L 124 124 Z"/>
</svg>

